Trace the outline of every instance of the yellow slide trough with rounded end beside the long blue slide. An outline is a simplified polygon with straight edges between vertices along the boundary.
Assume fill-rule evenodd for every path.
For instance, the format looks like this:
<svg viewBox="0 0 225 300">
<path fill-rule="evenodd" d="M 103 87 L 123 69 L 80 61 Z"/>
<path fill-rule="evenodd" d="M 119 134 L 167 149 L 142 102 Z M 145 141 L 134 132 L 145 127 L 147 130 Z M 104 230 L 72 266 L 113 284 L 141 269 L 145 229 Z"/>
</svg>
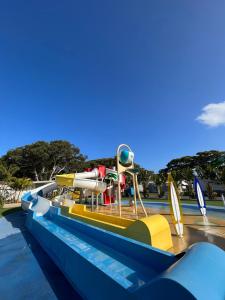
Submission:
<svg viewBox="0 0 225 300">
<path fill-rule="evenodd" d="M 162 250 L 168 250 L 173 247 L 169 223 L 166 218 L 161 215 L 131 220 L 90 212 L 86 209 L 86 205 L 81 204 L 75 204 L 70 208 L 61 207 L 61 211 L 62 214 L 68 215 L 69 217 Z"/>
</svg>

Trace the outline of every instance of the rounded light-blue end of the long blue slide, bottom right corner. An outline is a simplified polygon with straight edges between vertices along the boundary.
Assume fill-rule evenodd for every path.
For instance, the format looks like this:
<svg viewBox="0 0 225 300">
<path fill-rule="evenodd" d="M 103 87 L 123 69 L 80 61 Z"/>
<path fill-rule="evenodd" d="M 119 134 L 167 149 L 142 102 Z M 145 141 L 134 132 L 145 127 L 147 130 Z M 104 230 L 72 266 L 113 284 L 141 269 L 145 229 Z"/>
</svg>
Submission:
<svg viewBox="0 0 225 300">
<path fill-rule="evenodd" d="M 225 252 L 210 243 L 190 247 L 181 263 L 172 266 L 164 278 L 176 280 L 197 299 L 225 299 Z"/>
</svg>

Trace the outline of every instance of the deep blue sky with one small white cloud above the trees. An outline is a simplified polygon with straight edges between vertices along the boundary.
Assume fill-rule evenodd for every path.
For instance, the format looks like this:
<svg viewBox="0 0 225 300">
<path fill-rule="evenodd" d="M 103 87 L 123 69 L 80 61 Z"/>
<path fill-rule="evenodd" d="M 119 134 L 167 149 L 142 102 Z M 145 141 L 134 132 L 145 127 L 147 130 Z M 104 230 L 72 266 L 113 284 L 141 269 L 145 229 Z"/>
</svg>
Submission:
<svg viewBox="0 0 225 300">
<path fill-rule="evenodd" d="M 224 150 L 224 100 L 224 1 L 0 1 L 0 154 L 128 143 L 158 170 Z"/>
</svg>

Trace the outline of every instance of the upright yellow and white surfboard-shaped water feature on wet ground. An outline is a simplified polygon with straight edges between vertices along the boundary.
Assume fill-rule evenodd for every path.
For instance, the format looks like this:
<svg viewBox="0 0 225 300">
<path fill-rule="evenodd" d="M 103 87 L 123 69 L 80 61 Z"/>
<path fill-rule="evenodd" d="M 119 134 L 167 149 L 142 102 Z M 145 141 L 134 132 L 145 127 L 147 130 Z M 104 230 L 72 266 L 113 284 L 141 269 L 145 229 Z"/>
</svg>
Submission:
<svg viewBox="0 0 225 300">
<path fill-rule="evenodd" d="M 176 184 L 171 173 L 168 173 L 168 196 L 170 202 L 170 211 L 177 234 L 182 237 L 184 232 L 182 209 L 180 197 L 177 191 Z"/>
</svg>

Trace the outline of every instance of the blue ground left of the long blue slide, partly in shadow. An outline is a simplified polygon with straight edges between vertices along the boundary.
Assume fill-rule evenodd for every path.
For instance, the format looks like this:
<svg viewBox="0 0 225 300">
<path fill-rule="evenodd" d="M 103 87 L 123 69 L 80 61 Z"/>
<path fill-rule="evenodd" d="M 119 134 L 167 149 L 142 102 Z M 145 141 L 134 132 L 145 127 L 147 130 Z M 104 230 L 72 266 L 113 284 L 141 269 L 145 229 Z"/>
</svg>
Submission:
<svg viewBox="0 0 225 300">
<path fill-rule="evenodd" d="M 0 218 L 0 299 L 81 299 L 25 226 L 24 212 Z"/>
</svg>

